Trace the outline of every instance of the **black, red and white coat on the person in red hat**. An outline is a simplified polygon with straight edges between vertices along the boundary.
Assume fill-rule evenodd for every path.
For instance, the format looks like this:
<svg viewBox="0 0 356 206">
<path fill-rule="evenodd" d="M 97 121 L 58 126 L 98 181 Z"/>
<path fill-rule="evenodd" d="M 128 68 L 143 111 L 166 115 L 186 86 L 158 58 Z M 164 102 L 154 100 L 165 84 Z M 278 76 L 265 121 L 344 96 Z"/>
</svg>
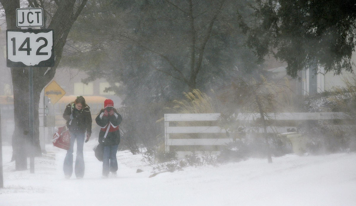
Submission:
<svg viewBox="0 0 356 206">
<path fill-rule="evenodd" d="M 95 118 L 96 124 L 98 124 L 101 127 L 101 130 L 99 132 L 99 143 L 102 144 L 104 143 L 104 146 L 112 146 L 112 145 L 119 145 L 120 143 L 120 131 L 119 131 L 119 125 L 122 121 L 122 116 L 115 112 L 114 115 L 110 116 L 104 116 L 104 111 L 102 110 L 98 116 Z M 115 131 L 108 131 L 108 134 L 106 135 L 105 139 L 105 133 L 106 129 L 110 125 L 111 129 L 114 129 L 114 127 L 117 127 Z M 109 130 L 110 130 L 109 128 Z M 103 141 L 104 140 L 104 141 Z"/>
</svg>

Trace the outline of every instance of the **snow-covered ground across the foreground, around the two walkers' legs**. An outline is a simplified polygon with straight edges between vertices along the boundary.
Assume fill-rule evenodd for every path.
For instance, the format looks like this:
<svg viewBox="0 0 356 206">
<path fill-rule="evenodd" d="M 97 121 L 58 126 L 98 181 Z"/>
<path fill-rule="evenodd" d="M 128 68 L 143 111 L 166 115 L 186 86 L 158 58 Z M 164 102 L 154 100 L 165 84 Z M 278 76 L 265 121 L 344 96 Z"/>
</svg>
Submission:
<svg viewBox="0 0 356 206">
<path fill-rule="evenodd" d="M 0 206 L 356 205 L 355 153 L 289 154 L 273 158 L 272 164 L 266 159 L 248 159 L 148 178 L 152 170 L 141 162 L 141 154 L 122 151 L 117 153 L 117 177 L 102 179 L 94 145 L 95 140 L 84 144 L 84 178 L 69 180 L 62 172 L 66 151 L 46 145 L 47 154 L 35 158 L 31 174 L 14 171 L 15 163 L 9 162 L 11 146 L 3 146 Z M 143 172 L 136 173 L 137 169 Z"/>
</svg>

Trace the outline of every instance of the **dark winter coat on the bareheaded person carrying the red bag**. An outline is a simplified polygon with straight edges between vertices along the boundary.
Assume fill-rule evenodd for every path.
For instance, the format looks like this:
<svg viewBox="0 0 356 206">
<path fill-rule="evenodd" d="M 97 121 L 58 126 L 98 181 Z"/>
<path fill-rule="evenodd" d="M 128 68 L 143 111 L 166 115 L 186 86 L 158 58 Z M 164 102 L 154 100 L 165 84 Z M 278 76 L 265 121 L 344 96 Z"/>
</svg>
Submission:
<svg viewBox="0 0 356 206">
<path fill-rule="evenodd" d="M 73 119 L 70 119 L 70 115 L 73 114 Z M 91 135 L 91 114 L 90 107 L 84 107 L 78 110 L 75 108 L 74 103 L 70 103 L 66 106 L 63 113 L 63 118 L 67 120 L 67 127 L 69 132 L 74 134 L 81 134 L 87 131 L 87 134 Z"/>
</svg>

